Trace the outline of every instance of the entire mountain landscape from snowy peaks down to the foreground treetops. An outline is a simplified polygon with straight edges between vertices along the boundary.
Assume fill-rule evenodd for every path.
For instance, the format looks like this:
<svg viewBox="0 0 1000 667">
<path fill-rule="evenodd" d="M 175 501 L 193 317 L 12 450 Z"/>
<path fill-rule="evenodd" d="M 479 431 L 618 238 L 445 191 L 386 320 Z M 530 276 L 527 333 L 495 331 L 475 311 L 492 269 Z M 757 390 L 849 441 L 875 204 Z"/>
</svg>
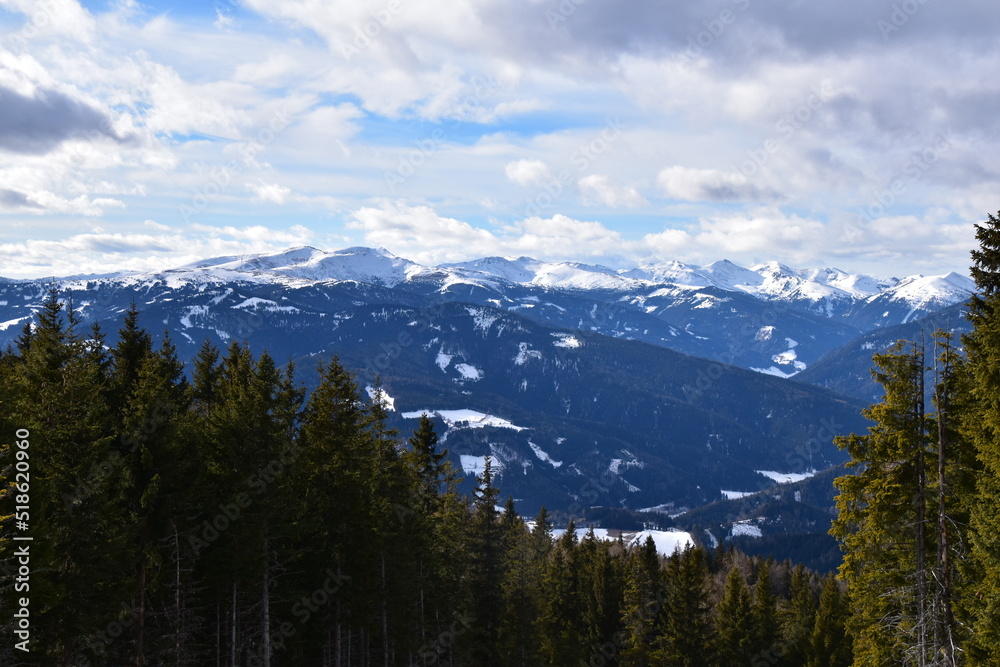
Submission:
<svg viewBox="0 0 1000 667">
<path fill-rule="evenodd" d="M 401 431 L 434 415 L 470 485 L 491 456 L 528 513 L 541 503 L 677 513 L 841 462 L 833 437 L 866 427 L 866 396 L 850 387 L 872 353 L 911 325 L 960 324 L 974 289 L 956 273 L 880 280 L 777 262 L 526 257 L 428 266 L 303 247 L 151 273 L 0 279 L 0 349 L 53 287 L 81 331 L 96 323 L 112 340 L 134 303 L 184 361 L 206 340 L 240 342 L 295 361 L 311 385 L 336 354 L 369 395 L 379 378 Z"/>
</svg>

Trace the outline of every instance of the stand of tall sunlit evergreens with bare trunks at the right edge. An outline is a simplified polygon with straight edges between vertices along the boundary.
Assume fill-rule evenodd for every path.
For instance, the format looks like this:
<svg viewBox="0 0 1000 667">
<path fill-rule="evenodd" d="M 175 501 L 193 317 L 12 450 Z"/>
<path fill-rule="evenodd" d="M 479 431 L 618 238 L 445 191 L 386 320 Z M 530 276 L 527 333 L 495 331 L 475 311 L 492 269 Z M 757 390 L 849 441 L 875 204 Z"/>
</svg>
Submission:
<svg viewBox="0 0 1000 667">
<path fill-rule="evenodd" d="M 859 667 L 1000 664 L 1000 218 L 976 231 L 966 355 L 949 331 L 875 355 L 874 426 L 839 439 Z"/>
</svg>

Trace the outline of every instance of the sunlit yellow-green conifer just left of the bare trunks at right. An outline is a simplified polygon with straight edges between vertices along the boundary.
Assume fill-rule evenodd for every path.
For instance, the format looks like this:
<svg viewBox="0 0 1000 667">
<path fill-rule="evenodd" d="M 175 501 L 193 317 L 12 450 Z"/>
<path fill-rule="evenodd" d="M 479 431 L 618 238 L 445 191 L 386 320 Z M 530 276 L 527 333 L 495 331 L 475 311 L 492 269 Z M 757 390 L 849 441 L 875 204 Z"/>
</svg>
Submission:
<svg viewBox="0 0 1000 667">
<path fill-rule="evenodd" d="M 926 655 L 927 424 L 919 349 L 875 356 L 883 402 L 864 415 L 865 436 L 838 439 L 855 475 L 836 480 L 838 516 L 831 534 L 843 543 L 841 575 L 852 590 L 855 661 L 882 665 L 914 651 Z M 921 658 L 923 660 L 923 658 Z M 923 664 L 922 662 L 920 664 Z"/>
</svg>

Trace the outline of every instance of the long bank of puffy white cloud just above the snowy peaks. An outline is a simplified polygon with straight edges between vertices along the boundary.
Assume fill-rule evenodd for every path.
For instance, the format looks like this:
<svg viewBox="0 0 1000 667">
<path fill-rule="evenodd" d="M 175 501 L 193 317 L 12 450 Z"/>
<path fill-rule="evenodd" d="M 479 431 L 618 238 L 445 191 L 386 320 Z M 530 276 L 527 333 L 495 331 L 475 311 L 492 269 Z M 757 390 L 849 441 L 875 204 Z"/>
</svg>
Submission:
<svg viewBox="0 0 1000 667">
<path fill-rule="evenodd" d="M 946 233 L 935 235 L 942 225 Z M 968 247 L 970 242 L 965 225 L 935 218 L 878 221 L 850 240 L 841 224 L 786 214 L 773 206 L 702 217 L 686 228 L 665 227 L 638 238 L 626 237 L 600 222 L 560 214 L 483 229 L 441 216 L 429 206 L 403 202 L 362 208 L 348 226 L 361 232 L 367 245 L 386 247 L 397 255 L 427 264 L 490 255 L 527 255 L 621 267 L 671 260 L 705 264 L 718 259 L 747 266 L 778 259 L 810 267 L 850 257 L 851 270 L 878 276 L 885 275 L 887 260 L 897 261 L 920 252 L 924 253 L 922 259 L 914 264 L 918 270 L 940 271 L 942 266 L 947 267 L 952 253 Z M 879 237 L 886 236 L 892 237 L 891 246 L 878 242 Z M 893 250 L 887 251 L 887 247 Z M 835 249 L 833 253 L 831 248 Z M 838 248 L 843 254 L 837 253 Z"/>
</svg>

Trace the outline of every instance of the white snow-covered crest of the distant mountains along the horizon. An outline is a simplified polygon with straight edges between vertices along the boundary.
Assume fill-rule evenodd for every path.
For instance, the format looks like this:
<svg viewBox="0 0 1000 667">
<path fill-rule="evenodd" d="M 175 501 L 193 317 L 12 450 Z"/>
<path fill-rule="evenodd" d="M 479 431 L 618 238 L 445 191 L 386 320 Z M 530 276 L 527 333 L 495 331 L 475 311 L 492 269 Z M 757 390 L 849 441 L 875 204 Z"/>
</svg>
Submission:
<svg viewBox="0 0 1000 667">
<path fill-rule="evenodd" d="M 720 260 L 706 266 L 669 262 L 613 269 L 530 257 L 485 257 L 431 266 L 397 257 L 385 249 L 356 247 L 324 251 L 308 246 L 269 255 L 216 257 L 166 271 L 123 272 L 100 279 L 128 283 L 164 280 L 172 285 L 202 281 L 288 285 L 353 281 L 390 288 L 407 282 L 437 282 L 442 290 L 456 284 L 622 292 L 660 285 L 692 290 L 715 287 L 767 301 L 801 304 L 830 317 L 845 316 L 859 305 L 880 297 L 907 303 L 914 313 L 935 310 L 967 299 L 975 289 L 969 278 L 955 272 L 878 279 L 835 268 L 793 269 L 774 261 L 750 268 Z M 88 277 L 80 276 L 65 282 L 73 285 L 87 281 Z"/>
</svg>

